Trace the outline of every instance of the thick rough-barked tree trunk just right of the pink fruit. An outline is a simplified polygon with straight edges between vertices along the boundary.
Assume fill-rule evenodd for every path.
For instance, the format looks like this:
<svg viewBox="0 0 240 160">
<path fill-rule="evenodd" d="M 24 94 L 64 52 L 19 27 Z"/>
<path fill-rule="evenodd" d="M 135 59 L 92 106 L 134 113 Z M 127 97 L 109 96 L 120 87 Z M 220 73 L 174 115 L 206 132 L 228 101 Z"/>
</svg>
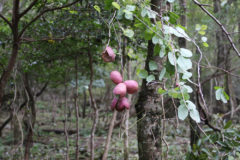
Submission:
<svg viewBox="0 0 240 160">
<path fill-rule="evenodd" d="M 161 0 L 152 0 L 152 10 L 160 13 L 158 6 Z M 150 74 L 149 62 L 156 60 L 154 54 L 154 44 L 148 41 L 147 59 L 145 61 L 145 70 Z M 161 97 L 157 93 L 156 84 L 147 84 L 144 79 L 136 108 L 137 114 L 137 138 L 139 160 L 159 160 L 161 159 Z"/>
</svg>

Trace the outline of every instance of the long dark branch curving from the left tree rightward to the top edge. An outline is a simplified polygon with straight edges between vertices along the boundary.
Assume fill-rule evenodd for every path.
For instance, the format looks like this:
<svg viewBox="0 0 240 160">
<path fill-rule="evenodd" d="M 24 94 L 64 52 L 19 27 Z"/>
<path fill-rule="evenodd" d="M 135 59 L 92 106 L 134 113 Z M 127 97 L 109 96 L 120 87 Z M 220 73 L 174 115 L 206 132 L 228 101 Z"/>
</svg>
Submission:
<svg viewBox="0 0 240 160">
<path fill-rule="evenodd" d="M 50 11 L 54 11 L 54 10 L 59 10 L 59 9 L 63 9 L 63 8 L 66 8 L 66 7 L 69 7 L 71 5 L 74 5 L 75 3 L 79 2 L 81 0 L 76 0 L 72 3 L 69 3 L 69 4 L 66 4 L 66 5 L 63 5 L 61 7 L 55 7 L 55 8 L 49 8 L 49 9 L 46 9 L 44 11 L 42 11 L 41 13 L 39 13 L 36 17 L 34 17 L 20 32 L 19 34 L 19 38 L 23 35 L 23 33 L 26 31 L 26 29 L 32 24 L 34 23 L 36 20 L 38 20 L 38 18 L 40 18 L 43 14 L 45 14 L 46 12 L 50 12 Z"/>
</svg>

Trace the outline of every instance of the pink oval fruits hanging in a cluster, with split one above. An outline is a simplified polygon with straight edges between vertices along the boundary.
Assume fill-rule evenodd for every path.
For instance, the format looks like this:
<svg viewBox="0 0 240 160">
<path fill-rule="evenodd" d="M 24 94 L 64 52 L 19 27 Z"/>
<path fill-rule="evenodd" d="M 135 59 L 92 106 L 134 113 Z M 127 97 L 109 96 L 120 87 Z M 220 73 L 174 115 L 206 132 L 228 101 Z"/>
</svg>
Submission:
<svg viewBox="0 0 240 160">
<path fill-rule="evenodd" d="M 115 60 L 115 53 L 111 47 L 107 46 L 102 53 L 102 58 L 105 62 L 113 62 Z M 110 79 L 116 84 L 113 89 L 115 98 L 112 100 L 111 109 L 117 111 L 123 111 L 130 108 L 130 103 L 126 97 L 126 94 L 136 93 L 138 90 L 138 83 L 135 80 L 126 80 L 123 82 L 123 77 L 120 72 L 112 71 L 110 73 Z"/>
</svg>

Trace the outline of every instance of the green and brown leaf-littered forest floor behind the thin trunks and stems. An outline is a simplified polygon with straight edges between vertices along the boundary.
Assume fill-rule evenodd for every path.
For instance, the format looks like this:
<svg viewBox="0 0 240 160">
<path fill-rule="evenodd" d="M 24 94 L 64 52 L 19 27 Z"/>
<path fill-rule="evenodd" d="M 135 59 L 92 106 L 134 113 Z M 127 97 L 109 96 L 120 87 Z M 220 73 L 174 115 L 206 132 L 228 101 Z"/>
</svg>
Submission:
<svg viewBox="0 0 240 160">
<path fill-rule="evenodd" d="M 72 115 L 67 121 L 69 132 L 69 157 L 74 159 L 75 144 L 76 144 L 76 118 L 74 116 L 74 109 L 72 108 Z M 66 154 L 66 138 L 64 135 L 64 109 L 53 108 L 45 103 L 37 103 L 37 121 L 34 130 L 34 145 L 31 148 L 31 159 L 64 159 Z M 92 120 L 91 113 L 87 111 L 86 118 L 79 120 L 79 157 L 82 160 L 89 159 L 89 139 L 91 134 Z M 100 113 L 100 119 L 95 137 L 95 159 L 99 160 L 104 151 L 105 139 L 111 113 Z M 121 119 L 123 115 L 118 117 Z M 7 118 L 6 114 L 1 114 L 0 124 Z M 22 120 L 22 114 L 18 116 L 19 121 Z M 137 120 L 131 117 L 129 120 L 129 150 L 130 160 L 138 159 L 137 149 Z M 123 159 L 123 129 L 120 125 L 116 126 L 113 132 L 113 137 L 110 145 L 109 156 L 110 160 Z M 189 129 L 184 128 L 187 125 L 179 123 L 176 126 L 176 120 L 171 119 L 165 121 L 165 136 L 163 137 L 163 153 L 165 159 L 183 159 L 183 155 L 189 150 Z M 0 159 L 2 160 L 17 160 L 22 159 L 24 154 L 24 147 L 22 143 L 22 133 L 19 134 L 19 144 L 13 145 L 13 131 L 11 123 L 6 126 L 3 135 L 0 137 Z M 24 130 L 24 126 L 22 127 Z M 176 136 L 177 133 L 177 136 Z M 24 133 L 23 133 L 24 134 Z"/>
</svg>

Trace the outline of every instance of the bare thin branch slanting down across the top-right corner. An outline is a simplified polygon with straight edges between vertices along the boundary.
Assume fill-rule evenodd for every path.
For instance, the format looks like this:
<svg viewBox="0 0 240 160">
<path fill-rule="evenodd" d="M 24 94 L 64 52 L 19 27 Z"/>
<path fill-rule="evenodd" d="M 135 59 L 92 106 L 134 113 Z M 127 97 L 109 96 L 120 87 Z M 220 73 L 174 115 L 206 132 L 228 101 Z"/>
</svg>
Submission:
<svg viewBox="0 0 240 160">
<path fill-rule="evenodd" d="M 237 47 L 235 46 L 235 44 L 233 43 L 233 40 L 230 36 L 230 34 L 228 33 L 228 31 L 226 30 L 226 28 L 222 25 L 222 23 L 216 18 L 214 17 L 206 8 L 204 8 L 204 6 L 199 3 L 197 0 L 193 0 L 193 2 L 198 5 L 208 16 L 210 16 L 222 29 L 222 31 L 225 33 L 225 35 L 227 36 L 228 38 L 228 41 L 230 42 L 232 48 L 234 49 L 234 51 L 237 53 L 237 56 L 240 57 L 240 53 L 237 49 Z"/>
</svg>

